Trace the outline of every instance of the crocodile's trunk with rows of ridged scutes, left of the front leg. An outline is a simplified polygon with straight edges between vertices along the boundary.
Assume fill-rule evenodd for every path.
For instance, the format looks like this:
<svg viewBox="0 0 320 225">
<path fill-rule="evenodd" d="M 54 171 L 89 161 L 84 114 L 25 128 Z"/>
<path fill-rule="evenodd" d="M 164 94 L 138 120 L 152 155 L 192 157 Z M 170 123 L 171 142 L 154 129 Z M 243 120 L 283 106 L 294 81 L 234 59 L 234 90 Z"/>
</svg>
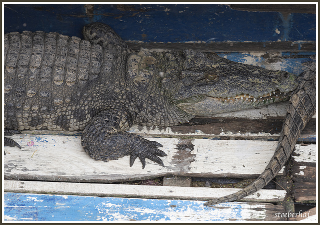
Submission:
<svg viewBox="0 0 320 225">
<path fill-rule="evenodd" d="M 41 31 L 6 34 L 5 128 L 60 130 L 72 126 L 71 110 L 81 107 L 83 89 L 99 79 L 102 64 L 102 47 L 77 37 Z M 64 127 L 72 130 L 69 128 Z"/>
</svg>

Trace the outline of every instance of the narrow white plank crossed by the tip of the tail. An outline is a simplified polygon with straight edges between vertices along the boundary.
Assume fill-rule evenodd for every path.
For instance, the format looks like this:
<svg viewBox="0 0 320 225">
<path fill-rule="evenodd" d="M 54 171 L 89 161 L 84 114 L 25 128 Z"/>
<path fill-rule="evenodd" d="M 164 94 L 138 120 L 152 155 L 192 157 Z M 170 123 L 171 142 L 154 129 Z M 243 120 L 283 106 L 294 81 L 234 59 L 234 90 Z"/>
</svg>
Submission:
<svg viewBox="0 0 320 225">
<path fill-rule="evenodd" d="M 4 180 L 5 192 L 88 195 L 100 197 L 142 197 L 164 199 L 208 200 L 235 193 L 239 188 L 177 187 L 105 183 L 73 183 Z M 258 190 L 241 201 L 282 201 L 285 190 Z"/>
</svg>

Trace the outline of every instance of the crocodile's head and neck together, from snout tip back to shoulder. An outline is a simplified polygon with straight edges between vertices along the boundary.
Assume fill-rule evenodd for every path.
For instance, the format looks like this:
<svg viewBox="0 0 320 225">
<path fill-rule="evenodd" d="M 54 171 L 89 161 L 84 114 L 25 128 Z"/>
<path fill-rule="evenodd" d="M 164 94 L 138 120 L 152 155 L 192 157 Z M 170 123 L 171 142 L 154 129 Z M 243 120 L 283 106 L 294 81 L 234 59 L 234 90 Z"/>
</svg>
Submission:
<svg viewBox="0 0 320 225">
<path fill-rule="evenodd" d="M 139 124 L 171 126 L 194 116 L 284 101 L 297 86 L 290 73 L 232 62 L 213 53 L 142 50 L 130 53 L 127 60 L 126 80 L 132 84 L 128 90 L 135 96 L 129 111 Z"/>
</svg>

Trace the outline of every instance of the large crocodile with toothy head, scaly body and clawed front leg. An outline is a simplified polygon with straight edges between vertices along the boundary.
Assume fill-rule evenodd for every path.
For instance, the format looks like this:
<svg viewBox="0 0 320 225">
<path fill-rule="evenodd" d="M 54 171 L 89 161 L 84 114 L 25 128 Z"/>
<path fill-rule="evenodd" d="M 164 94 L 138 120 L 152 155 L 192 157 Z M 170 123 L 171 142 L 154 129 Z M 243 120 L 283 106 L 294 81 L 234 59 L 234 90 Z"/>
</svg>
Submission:
<svg viewBox="0 0 320 225">
<path fill-rule="evenodd" d="M 36 31 L 4 35 L 4 135 L 19 130 L 82 131 L 95 160 L 129 155 L 164 166 L 162 145 L 126 130 L 134 123 L 176 126 L 194 116 L 289 99 L 297 77 L 215 53 L 132 51 L 107 25 L 81 40 Z M 19 147 L 9 137 L 7 146 Z"/>
</svg>

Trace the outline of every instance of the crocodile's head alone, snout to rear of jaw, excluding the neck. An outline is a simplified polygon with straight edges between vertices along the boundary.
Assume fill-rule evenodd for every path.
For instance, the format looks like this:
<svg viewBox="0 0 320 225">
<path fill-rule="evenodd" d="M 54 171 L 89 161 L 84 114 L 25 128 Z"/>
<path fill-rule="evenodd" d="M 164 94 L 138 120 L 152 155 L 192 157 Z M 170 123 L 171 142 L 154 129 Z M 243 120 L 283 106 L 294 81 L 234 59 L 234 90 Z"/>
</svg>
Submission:
<svg viewBox="0 0 320 225">
<path fill-rule="evenodd" d="M 162 87 L 177 107 L 194 116 L 285 101 L 297 86 L 297 77 L 285 71 L 232 62 L 214 53 L 184 50 L 165 58 Z"/>
</svg>

